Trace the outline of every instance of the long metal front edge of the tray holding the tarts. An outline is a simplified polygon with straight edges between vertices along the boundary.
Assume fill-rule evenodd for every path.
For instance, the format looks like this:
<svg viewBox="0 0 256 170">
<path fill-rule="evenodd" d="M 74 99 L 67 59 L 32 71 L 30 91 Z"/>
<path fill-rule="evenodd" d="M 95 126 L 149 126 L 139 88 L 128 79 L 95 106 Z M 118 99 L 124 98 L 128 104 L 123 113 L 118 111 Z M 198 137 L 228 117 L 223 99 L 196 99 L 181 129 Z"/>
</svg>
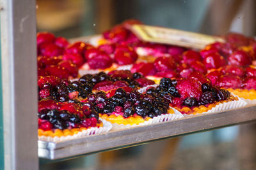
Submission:
<svg viewBox="0 0 256 170">
<path fill-rule="evenodd" d="M 161 138 L 171 138 L 256 120 L 256 106 L 204 115 L 195 115 L 173 122 L 133 127 L 120 131 L 88 136 L 58 143 L 38 141 L 38 156 L 46 159 L 63 159 L 85 153 L 136 145 Z"/>
</svg>

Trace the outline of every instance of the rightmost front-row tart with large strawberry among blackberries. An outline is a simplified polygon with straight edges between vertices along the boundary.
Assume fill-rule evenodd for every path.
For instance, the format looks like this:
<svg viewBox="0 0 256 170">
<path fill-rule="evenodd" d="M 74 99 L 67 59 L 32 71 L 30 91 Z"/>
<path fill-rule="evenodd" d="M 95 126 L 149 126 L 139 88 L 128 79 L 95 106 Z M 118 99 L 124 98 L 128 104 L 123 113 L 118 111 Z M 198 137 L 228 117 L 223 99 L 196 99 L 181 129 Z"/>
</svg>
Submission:
<svg viewBox="0 0 256 170">
<path fill-rule="evenodd" d="M 211 85 L 203 74 L 194 72 L 188 79 L 162 78 L 159 86 L 147 89 L 147 94 L 158 94 L 168 99 L 170 106 L 182 114 L 195 115 L 244 106 L 246 102 L 230 92 Z"/>
</svg>

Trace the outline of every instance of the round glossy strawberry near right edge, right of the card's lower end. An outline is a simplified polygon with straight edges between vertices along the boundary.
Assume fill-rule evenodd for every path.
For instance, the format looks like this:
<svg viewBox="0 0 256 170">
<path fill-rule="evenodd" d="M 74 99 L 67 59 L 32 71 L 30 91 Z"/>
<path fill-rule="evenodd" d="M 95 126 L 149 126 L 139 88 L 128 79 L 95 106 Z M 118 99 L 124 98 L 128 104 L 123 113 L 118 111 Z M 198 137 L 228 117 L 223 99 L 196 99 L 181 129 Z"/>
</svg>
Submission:
<svg viewBox="0 0 256 170">
<path fill-rule="evenodd" d="M 235 66 L 248 66 L 252 64 L 252 59 L 243 50 L 236 50 L 228 57 L 228 64 Z"/>
</svg>

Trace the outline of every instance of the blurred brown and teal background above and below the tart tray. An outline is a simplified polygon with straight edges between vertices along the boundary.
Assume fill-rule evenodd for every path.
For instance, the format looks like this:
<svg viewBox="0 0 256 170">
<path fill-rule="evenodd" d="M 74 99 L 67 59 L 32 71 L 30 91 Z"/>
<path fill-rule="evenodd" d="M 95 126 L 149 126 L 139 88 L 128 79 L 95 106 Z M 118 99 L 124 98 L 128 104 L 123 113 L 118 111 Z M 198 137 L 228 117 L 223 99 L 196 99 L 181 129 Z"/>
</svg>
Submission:
<svg viewBox="0 0 256 170">
<path fill-rule="evenodd" d="M 129 18 L 205 34 L 256 34 L 254 0 L 37 0 L 38 31 L 77 38 Z M 227 127 L 61 162 L 40 169 L 256 169 L 255 124 Z"/>
</svg>

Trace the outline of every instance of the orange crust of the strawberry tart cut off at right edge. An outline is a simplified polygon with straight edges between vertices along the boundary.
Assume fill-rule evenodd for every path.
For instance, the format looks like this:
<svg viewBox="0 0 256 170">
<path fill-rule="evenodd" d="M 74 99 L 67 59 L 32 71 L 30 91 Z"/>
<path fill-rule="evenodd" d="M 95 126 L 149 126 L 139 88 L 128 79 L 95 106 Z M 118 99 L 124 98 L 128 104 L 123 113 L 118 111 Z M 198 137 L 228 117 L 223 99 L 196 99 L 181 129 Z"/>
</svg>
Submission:
<svg viewBox="0 0 256 170">
<path fill-rule="evenodd" d="M 242 97 L 244 99 L 256 99 L 256 90 L 255 89 L 226 89 L 229 92 L 232 92 L 233 94 Z"/>
</svg>

